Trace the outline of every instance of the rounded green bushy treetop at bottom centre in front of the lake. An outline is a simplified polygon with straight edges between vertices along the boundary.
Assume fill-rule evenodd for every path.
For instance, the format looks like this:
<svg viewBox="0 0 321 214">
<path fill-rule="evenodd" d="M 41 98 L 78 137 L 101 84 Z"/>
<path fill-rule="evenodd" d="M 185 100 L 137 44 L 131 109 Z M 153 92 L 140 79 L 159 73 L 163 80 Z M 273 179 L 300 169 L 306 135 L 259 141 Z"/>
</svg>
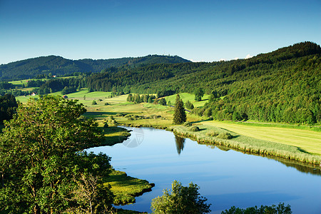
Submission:
<svg viewBox="0 0 321 214">
<path fill-rule="evenodd" d="M 172 190 L 163 190 L 161 197 L 154 198 L 151 203 L 153 213 L 199 214 L 210 213 L 210 204 L 198 193 L 198 185 L 190 183 L 188 187 L 174 180 Z"/>
</svg>

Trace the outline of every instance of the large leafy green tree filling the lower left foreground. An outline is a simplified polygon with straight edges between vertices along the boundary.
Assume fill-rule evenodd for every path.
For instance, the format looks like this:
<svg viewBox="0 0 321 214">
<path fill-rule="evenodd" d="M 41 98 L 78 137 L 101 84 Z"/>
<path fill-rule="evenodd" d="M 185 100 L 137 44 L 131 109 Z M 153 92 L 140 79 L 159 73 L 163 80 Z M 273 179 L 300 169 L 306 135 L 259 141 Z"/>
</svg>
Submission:
<svg viewBox="0 0 321 214">
<path fill-rule="evenodd" d="M 108 156 L 80 155 L 102 138 L 95 122 L 77 119 L 85 112 L 82 104 L 59 96 L 19 106 L 0 136 L 0 210 L 61 213 L 79 205 L 77 184 L 88 188 L 101 176 L 93 169 L 110 168 Z"/>
</svg>

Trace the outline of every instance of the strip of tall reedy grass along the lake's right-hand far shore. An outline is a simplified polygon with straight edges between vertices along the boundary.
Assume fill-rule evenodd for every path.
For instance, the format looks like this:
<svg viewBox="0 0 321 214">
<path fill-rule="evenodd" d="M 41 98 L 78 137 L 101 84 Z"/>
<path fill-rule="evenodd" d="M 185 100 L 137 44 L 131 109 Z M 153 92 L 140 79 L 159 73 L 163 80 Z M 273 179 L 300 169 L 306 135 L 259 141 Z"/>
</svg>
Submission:
<svg viewBox="0 0 321 214">
<path fill-rule="evenodd" d="M 302 151 L 300 148 L 284 143 L 275 143 L 272 141 L 251 138 L 216 126 L 198 125 L 198 128 L 200 131 L 190 131 L 190 127 L 174 126 L 173 132 L 180 136 L 194 138 L 198 143 L 222 145 L 248 153 L 277 156 L 315 165 L 319 165 L 321 161 L 321 156 L 311 155 Z M 220 135 L 220 133 L 230 133 L 232 137 L 227 139 L 223 137 L 224 135 Z"/>
</svg>

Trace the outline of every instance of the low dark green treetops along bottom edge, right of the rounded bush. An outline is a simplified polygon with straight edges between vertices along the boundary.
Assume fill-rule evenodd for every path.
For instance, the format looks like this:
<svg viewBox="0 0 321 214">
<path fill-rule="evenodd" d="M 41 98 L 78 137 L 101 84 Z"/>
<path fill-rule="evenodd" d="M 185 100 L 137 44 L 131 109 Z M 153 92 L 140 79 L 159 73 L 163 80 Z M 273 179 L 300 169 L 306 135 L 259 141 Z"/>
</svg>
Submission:
<svg viewBox="0 0 321 214">
<path fill-rule="evenodd" d="M 225 210 L 222 214 L 291 214 L 291 207 L 290 205 L 285 206 L 284 203 L 279 203 L 279 205 L 270 205 L 270 206 L 263 206 L 261 205 L 260 208 L 257 206 L 252 208 L 235 208 L 232 207 L 230 210 Z"/>
</svg>

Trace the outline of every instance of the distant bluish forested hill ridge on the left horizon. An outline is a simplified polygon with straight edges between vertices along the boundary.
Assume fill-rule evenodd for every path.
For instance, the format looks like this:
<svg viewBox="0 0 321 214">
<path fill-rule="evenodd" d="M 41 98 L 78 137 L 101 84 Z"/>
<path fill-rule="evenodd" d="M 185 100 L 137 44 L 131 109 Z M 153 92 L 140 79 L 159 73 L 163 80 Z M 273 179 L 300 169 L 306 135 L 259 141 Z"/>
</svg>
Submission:
<svg viewBox="0 0 321 214">
<path fill-rule="evenodd" d="M 35 78 L 39 75 L 64 76 L 70 73 L 100 72 L 111 67 L 137 67 L 155 63 L 184 63 L 188 60 L 179 56 L 148 55 L 143 57 L 111 58 L 93 60 L 90 58 L 81 60 L 66 59 L 61 56 L 41 56 L 29 58 L 0 65 L 1 80 L 19 80 Z"/>
</svg>

